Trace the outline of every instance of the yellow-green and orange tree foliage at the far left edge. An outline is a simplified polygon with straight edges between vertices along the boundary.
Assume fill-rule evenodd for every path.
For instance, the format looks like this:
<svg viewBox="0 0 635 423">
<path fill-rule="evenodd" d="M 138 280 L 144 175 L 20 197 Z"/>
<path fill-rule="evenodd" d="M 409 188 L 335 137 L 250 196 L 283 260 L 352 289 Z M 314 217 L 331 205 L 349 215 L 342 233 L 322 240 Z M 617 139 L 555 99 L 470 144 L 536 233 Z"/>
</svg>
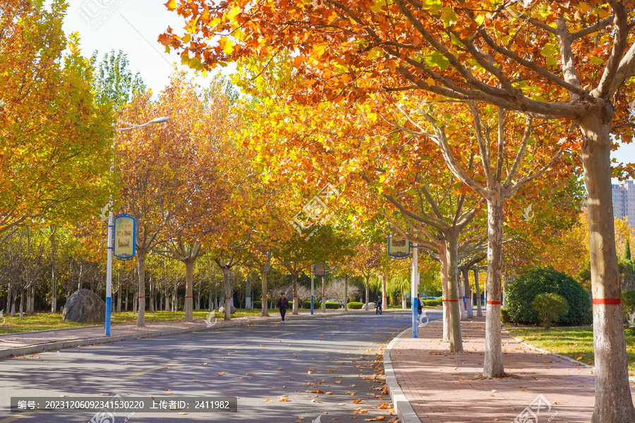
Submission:
<svg viewBox="0 0 635 423">
<path fill-rule="evenodd" d="M 66 7 L 0 1 L 0 234 L 81 219 L 111 188 L 112 111 L 94 102 L 78 36 L 63 34 Z"/>
</svg>

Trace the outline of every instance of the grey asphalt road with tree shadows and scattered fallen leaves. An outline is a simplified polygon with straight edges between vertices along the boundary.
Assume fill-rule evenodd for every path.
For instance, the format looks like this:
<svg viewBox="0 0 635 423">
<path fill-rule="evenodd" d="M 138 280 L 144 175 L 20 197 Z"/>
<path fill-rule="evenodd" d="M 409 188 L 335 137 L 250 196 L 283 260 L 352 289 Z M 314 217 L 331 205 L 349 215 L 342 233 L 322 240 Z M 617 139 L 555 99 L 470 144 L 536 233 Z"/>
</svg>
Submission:
<svg viewBox="0 0 635 423">
<path fill-rule="evenodd" d="M 405 312 L 369 312 L 9 357 L 0 360 L 0 423 L 308 423 L 318 417 L 322 423 L 363 422 L 380 415 L 388 420 L 380 407 L 390 398 L 382 395 L 380 379 L 373 376 L 381 370 L 376 354 L 409 324 Z M 107 400 L 116 395 L 188 397 L 193 403 L 194 397 L 237 397 L 238 409 L 116 412 L 114 419 L 95 417 L 95 412 L 9 409 L 11 397 Z M 353 414 L 358 408 L 367 413 Z"/>
</svg>

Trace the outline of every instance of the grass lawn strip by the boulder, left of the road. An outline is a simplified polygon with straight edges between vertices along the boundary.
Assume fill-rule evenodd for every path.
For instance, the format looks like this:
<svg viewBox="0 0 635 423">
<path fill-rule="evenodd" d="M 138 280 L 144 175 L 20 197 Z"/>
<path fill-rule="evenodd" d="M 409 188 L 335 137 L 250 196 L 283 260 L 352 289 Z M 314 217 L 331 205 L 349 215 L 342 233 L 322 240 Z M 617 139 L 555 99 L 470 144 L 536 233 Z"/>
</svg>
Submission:
<svg viewBox="0 0 635 423">
<path fill-rule="evenodd" d="M 206 319 L 207 310 L 194 311 L 194 319 Z M 270 310 L 270 314 L 277 314 L 277 310 Z M 260 316 L 260 309 L 237 309 L 232 317 Z M 183 320 L 185 312 L 145 312 L 145 321 L 179 321 Z M 224 314 L 215 313 L 214 318 L 223 318 Z M 4 324 L 2 321 L 4 320 Z M 128 324 L 137 321 L 137 314 L 133 312 L 121 312 L 112 314 L 112 324 Z M 80 326 L 95 326 L 95 324 L 75 323 L 72 321 L 61 321 L 61 314 L 36 313 L 25 314 L 20 320 L 20 315 L 16 317 L 3 316 L 0 318 L 0 335 L 6 333 L 44 331 L 47 329 L 76 328 Z"/>
</svg>

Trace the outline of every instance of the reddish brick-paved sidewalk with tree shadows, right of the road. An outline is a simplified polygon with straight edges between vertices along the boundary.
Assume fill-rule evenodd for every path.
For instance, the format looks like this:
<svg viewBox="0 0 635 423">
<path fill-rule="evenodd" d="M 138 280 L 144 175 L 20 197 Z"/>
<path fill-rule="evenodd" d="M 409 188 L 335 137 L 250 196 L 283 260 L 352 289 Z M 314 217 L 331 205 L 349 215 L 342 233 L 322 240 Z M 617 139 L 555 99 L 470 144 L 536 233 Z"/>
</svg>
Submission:
<svg viewBox="0 0 635 423">
<path fill-rule="evenodd" d="M 483 379 L 484 317 L 461 321 L 464 353 L 448 353 L 449 343 L 441 339 L 441 321 L 430 321 L 418 333 L 419 338 L 404 333 L 390 358 L 397 381 L 421 422 L 514 422 L 539 395 L 551 403 L 550 410 L 543 405 L 537 420 L 519 421 L 591 421 L 592 369 L 538 353 L 503 333 L 504 369 L 509 377 Z M 633 388 L 631 393 L 635 395 Z"/>
</svg>

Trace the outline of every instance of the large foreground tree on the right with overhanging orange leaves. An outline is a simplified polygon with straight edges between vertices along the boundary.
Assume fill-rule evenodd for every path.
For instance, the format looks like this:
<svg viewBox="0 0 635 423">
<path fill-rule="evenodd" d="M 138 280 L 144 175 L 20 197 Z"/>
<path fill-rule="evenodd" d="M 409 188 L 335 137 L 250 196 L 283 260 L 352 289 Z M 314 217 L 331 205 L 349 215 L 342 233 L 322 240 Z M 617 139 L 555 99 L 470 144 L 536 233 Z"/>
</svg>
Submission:
<svg viewBox="0 0 635 423">
<path fill-rule="evenodd" d="M 213 7 L 205 0 L 178 3 L 167 6 L 187 18 L 188 35 L 169 28 L 159 39 L 184 49 L 183 60 L 195 68 L 296 51 L 296 75 L 313 80 L 310 88 L 293 92 L 305 102 L 422 90 L 578 128 L 595 300 L 592 421 L 635 419 L 613 215 L 604 206 L 612 201 L 610 134 L 625 140 L 633 135 L 626 95 L 635 82 L 633 1 L 573 0 L 525 9 L 520 2 L 477 0 L 280 2 L 262 8 L 247 0 Z"/>
</svg>

